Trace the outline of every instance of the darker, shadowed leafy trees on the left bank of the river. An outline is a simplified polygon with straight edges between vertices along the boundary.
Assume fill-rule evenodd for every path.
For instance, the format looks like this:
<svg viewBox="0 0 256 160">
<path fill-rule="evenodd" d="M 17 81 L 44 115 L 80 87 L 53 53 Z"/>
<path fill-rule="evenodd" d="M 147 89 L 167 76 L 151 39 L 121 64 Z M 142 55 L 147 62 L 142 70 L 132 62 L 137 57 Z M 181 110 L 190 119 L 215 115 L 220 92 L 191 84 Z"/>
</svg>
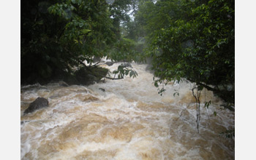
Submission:
<svg viewBox="0 0 256 160">
<path fill-rule="evenodd" d="M 119 28 L 121 20 L 129 20 L 121 9 L 128 9 L 131 3 L 21 1 L 21 82 L 43 83 L 70 75 L 84 60 L 91 63 L 93 57 L 127 59 L 130 46 L 123 43 Z M 107 51 L 113 47 L 116 50 L 111 55 Z"/>
</svg>

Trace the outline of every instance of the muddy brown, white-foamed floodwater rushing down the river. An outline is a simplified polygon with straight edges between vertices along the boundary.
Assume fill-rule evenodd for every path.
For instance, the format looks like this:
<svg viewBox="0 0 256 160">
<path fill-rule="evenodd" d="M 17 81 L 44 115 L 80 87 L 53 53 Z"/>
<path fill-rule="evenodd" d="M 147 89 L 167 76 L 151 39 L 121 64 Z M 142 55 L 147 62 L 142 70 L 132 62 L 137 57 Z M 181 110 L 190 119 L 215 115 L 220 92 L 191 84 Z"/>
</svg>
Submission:
<svg viewBox="0 0 256 160">
<path fill-rule="evenodd" d="M 102 67 L 113 71 L 120 64 Z M 201 105 L 198 133 L 192 84 L 169 83 L 160 96 L 147 65 L 131 64 L 135 79 L 22 86 L 20 158 L 234 159 L 235 141 L 219 133 L 234 128 L 235 113 L 221 109 L 221 100 L 203 89 L 201 102 L 212 103 L 208 109 Z M 47 98 L 49 107 L 23 116 L 37 97 Z"/>
</svg>

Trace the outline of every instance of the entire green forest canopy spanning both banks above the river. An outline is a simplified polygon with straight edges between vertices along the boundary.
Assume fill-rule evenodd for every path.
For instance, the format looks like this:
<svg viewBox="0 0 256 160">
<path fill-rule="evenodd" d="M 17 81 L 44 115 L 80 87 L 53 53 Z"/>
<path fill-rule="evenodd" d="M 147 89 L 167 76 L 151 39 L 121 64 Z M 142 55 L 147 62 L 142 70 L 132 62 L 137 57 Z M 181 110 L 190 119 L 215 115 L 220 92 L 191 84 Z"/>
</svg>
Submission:
<svg viewBox="0 0 256 160">
<path fill-rule="evenodd" d="M 233 0 L 21 1 L 21 82 L 151 57 L 156 87 L 187 79 L 234 103 L 234 22 Z"/>
</svg>

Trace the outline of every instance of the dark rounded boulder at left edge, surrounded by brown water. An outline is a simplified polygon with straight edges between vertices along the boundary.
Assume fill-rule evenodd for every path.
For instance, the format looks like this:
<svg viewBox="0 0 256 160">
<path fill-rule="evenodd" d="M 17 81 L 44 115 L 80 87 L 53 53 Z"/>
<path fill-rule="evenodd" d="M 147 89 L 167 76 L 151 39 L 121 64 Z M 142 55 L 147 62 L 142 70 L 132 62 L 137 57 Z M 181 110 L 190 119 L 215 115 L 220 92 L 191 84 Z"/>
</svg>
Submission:
<svg viewBox="0 0 256 160">
<path fill-rule="evenodd" d="M 29 108 L 26 108 L 24 114 L 34 112 L 40 108 L 48 107 L 48 105 L 48 100 L 43 97 L 37 97 L 37 100 L 34 100 L 33 103 L 30 103 Z"/>
</svg>

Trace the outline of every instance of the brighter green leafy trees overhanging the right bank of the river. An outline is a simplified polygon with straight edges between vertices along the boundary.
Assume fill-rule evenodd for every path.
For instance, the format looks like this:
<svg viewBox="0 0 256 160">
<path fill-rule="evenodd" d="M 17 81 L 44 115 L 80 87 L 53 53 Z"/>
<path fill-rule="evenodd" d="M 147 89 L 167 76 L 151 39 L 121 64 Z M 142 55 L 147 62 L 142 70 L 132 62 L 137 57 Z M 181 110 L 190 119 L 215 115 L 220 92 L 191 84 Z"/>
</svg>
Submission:
<svg viewBox="0 0 256 160">
<path fill-rule="evenodd" d="M 234 103 L 233 0 L 141 1 L 137 21 L 146 30 L 157 82 L 187 79 Z"/>
</svg>

